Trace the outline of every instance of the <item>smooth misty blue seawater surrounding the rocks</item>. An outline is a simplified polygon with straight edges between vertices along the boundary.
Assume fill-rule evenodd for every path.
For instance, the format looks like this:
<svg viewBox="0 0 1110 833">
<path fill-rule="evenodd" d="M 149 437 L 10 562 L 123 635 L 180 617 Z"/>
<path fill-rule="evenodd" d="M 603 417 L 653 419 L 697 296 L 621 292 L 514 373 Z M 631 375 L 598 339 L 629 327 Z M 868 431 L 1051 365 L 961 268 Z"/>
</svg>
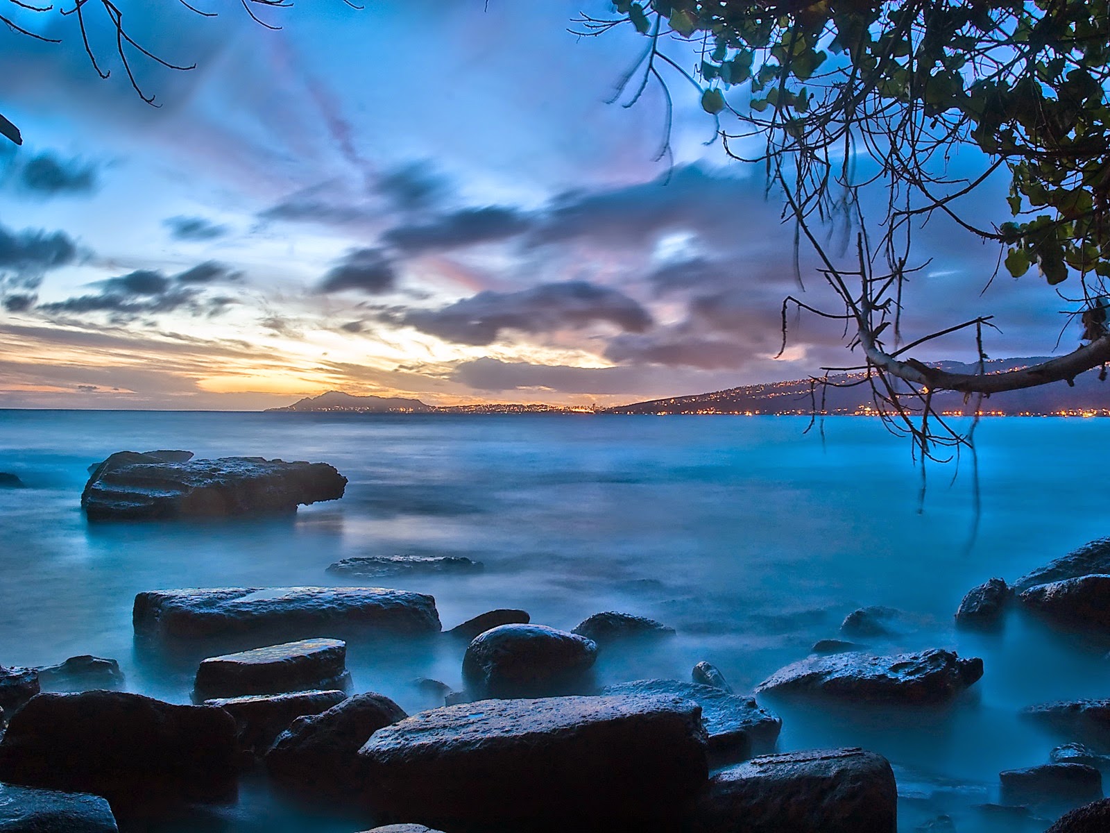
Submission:
<svg viewBox="0 0 1110 833">
<path fill-rule="evenodd" d="M 1110 532 L 1100 462 L 1110 420 L 985 421 L 970 549 L 968 459 L 955 482 L 952 466 L 929 471 L 918 513 L 906 440 L 877 420 L 837 418 L 823 446 L 805 426 L 769 416 L 0 411 L 0 471 L 29 486 L 0 490 L 0 664 L 111 656 L 129 690 L 189 702 L 193 661 L 137 650 L 137 592 L 359 584 L 325 572 L 354 555 L 484 562 L 481 573 L 392 583 L 434 594 L 444 628 L 506 606 L 563 629 L 604 610 L 677 629 L 652 648 L 603 651 L 602 683 L 688 680 L 708 660 L 748 690 L 836 638 L 854 608 L 886 604 L 921 626 L 876 649 L 953 648 L 983 658 L 982 680 L 942 709 L 763 699 L 783 716 L 779 749 L 886 755 L 904 831 L 941 813 L 960 833 L 1043 830 L 976 806 L 998 801 L 999 771 L 1045 763 L 1059 743 L 1022 721 L 1021 706 L 1108 695 L 1108 645 L 1015 616 L 999 634 L 969 634 L 952 628 L 952 612 L 972 585 L 1012 580 Z M 90 525 L 79 506 L 87 466 L 122 449 L 326 461 L 350 483 L 343 500 L 295 518 Z M 462 652 L 446 639 L 352 642 L 354 691 L 410 713 L 430 707 L 412 681 L 461 688 Z M 289 804 L 253 774 L 238 804 L 144 830 L 351 833 L 369 821 Z"/>
</svg>

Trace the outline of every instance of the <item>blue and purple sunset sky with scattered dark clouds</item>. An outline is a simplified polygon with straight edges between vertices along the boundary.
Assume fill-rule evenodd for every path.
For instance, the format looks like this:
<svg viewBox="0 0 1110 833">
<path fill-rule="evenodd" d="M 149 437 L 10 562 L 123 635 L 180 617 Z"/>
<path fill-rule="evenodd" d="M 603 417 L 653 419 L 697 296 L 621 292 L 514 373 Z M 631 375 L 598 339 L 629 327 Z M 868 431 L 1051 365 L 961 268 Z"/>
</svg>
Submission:
<svg viewBox="0 0 1110 833">
<path fill-rule="evenodd" d="M 567 31 L 607 2 L 302 0 L 259 12 L 279 30 L 232 0 L 119 8 L 195 63 L 132 50 L 157 107 L 103 19 L 107 79 L 72 16 L 4 8 L 62 42 L 0 27 L 0 113 L 24 139 L 0 145 L 0 408 L 617 404 L 858 362 L 813 317 L 775 358 L 801 293 L 781 202 L 707 143 L 685 81 L 664 159 L 660 91 L 609 102 L 642 39 Z M 996 249 L 936 219 L 916 245 L 908 338 L 993 314 L 993 357 L 1076 347 L 1060 299 L 996 274 Z M 799 297 L 820 305 L 811 265 Z M 918 358 L 972 355 L 962 337 Z"/>
</svg>

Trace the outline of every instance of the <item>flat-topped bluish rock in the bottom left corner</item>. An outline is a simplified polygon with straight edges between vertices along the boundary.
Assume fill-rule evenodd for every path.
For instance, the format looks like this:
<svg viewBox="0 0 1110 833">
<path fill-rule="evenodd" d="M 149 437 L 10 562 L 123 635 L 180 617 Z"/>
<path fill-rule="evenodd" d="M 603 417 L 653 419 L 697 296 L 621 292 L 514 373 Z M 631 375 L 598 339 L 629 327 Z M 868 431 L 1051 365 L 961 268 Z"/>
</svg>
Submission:
<svg viewBox="0 0 1110 833">
<path fill-rule="evenodd" d="M 99 795 L 0 784 L 0 833 L 119 833 Z"/>
</svg>

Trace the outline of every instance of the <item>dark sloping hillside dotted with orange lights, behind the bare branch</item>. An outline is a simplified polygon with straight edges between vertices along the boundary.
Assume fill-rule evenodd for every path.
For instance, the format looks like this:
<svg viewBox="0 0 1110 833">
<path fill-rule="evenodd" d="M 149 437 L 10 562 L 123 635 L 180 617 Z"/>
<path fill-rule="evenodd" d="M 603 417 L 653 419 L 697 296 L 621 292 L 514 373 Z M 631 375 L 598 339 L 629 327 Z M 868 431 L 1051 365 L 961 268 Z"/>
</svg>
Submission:
<svg viewBox="0 0 1110 833">
<path fill-rule="evenodd" d="M 987 362 L 988 373 L 998 373 L 1016 368 L 1039 364 L 1047 357 L 1026 359 L 998 359 Z M 951 372 L 976 372 L 975 365 L 960 362 L 939 362 L 938 367 Z M 830 377 L 833 382 L 845 384 L 859 381 L 862 373 L 846 373 Z M 729 388 L 713 393 L 696 393 L 688 397 L 656 399 L 649 402 L 635 402 L 628 405 L 609 408 L 606 413 L 753 413 L 753 414 L 810 414 L 814 405 L 821 407 L 824 394 L 824 413 L 828 414 L 867 414 L 874 413 L 870 387 L 833 387 L 821 389 L 817 385 L 810 394 L 808 379 L 767 384 L 749 384 L 741 388 Z M 950 415 L 970 415 L 975 402 L 965 403 L 961 393 L 950 391 L 934 395 L 937 410 Z M 1027 388 L 1009 393 L 999 393 L 985 399 L 982 413 L 991 415 L 1043 415 L 1068 414 L 1081 415 L 1094 413 L 1110 416 L 1110 382 L 1099 381 L 1099 371 L 1092 370 L 1076 377 L 1074 387 L 1066 382 Z"/>
</svg>

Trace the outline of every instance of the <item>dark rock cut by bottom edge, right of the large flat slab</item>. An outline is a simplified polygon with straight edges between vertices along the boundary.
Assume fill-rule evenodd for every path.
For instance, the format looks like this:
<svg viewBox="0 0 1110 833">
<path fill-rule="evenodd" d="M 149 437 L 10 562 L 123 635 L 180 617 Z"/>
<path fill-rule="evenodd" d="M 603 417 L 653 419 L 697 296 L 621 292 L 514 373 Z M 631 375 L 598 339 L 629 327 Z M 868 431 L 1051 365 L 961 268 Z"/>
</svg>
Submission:
<svg viewBox="0 0 1110 833">
<path fill-rule="evenodd" d="M 716 774 L 695 804 L 695 833 L 895 833 L 887 760 L 858 749 L 765 755 Z"/>
</svg>

